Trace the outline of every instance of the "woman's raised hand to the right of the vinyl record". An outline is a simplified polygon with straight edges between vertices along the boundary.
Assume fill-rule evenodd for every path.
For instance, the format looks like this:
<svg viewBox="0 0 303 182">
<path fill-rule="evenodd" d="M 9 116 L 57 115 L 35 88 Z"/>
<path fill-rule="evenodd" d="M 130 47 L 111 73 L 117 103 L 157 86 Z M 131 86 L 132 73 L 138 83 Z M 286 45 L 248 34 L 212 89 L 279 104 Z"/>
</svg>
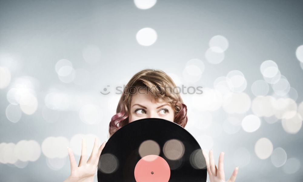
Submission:
<svg viewBox="0 0 303 182">
<path fill-rule="evenodd" d="M 209 157 L 207 153 L 202 149 L 202 153 L 204 155 L 206 161 L 207 172 L 209 176 L 210 182 L 225 182 L 224 168 L 223 168 L 223 159 L 224 152 L 220 153 L 219 162 L 218 162 L 218 170 L 214 160 L 213 150 L 209 150 Z M 236 167 L 234 172 L 231 174 L 231 177 L 227 182 L 234 182 L 236 180 L 238 174 L 239 167 Z"/>
</svg>

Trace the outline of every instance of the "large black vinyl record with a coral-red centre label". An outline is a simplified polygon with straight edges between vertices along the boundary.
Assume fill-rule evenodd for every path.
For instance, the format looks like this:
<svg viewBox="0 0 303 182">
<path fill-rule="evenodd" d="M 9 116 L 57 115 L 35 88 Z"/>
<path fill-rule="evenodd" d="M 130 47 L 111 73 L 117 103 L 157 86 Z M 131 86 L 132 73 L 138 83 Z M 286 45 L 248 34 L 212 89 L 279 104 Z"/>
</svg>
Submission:
<svg viewBox="0 0 303 182">
<path fill-rule="evenodd" d="M 205 182 L 201 147 L 182 126 L 159 118 L 133 121 L 106 142 L 98 182 Z"/>
</svg>

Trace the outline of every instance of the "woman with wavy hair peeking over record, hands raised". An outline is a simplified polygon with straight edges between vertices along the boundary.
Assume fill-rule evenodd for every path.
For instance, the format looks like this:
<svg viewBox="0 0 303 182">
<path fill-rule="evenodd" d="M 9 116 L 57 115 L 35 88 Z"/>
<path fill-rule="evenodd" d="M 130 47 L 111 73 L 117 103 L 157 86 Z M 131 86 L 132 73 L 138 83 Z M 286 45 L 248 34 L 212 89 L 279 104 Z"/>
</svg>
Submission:
<svg viewBox="0 0 303 182">
<path fill-rule="evenodd" d="M 127 83 L 117 106 L 117 112 L 109 123 L 109 137 L 119 128 L 135 120 L 143 118 L 161 118 L 175 122 L 182 127 L 187 123 L 187 108 L 183 103 L 175 83 L 165 72 L 155 69 L 144 69 L 135 74 Z M 98 160 L 105 142 L 98 148 L 99 140 L 96 137 L 94 147 L 87 160 L 86 143 L 82 139 L 82 151 L 77 167 L 72 149 L 68 148 L 71 163 L 71 175 L 67 181 L 94 181 Z M 215 165 L 213 150 L 207 155 L 202 153 L 206 160 L 210 182 L 224 182 L 223 169 L 224 152 L 220 153 L 218 169 Z M 234 182 L 238 173 L 235 168 L 228 182 Z"/>
</svg>

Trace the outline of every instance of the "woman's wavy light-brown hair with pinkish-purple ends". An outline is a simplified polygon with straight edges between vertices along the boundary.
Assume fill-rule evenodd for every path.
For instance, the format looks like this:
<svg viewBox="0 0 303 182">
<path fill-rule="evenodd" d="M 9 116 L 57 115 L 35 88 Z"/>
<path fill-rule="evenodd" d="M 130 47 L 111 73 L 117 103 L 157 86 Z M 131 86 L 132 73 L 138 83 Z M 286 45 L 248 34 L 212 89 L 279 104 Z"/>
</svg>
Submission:
<svg viewBox="0 0 303 182">
<path fill-rule="evenodd" d="M 187 123 L 187 107 L 183 103 L 179 92 L 175 92 L 174 81 L 165 72 L 158 69 L 144 69 L 136 73 L 126 84 L 122 96 L 120 97 L 116 114 L 108 126 L 109 137 L 118 129 L 128 124 L 130 103 L 133 88 L 146 87 L 154 95 L 155 101 L 165 101 L 170 103 L 174 110 L 174 122 L 185 127 Z"/>
</svg>

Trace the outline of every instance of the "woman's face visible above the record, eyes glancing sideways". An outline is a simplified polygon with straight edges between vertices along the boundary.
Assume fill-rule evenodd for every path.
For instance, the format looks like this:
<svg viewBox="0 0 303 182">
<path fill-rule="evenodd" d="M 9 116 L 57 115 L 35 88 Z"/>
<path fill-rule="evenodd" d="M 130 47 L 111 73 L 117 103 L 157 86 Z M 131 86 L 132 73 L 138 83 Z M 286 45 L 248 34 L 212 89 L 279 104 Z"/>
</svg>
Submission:
<svg viewBox="0 0 303 182">
<path fill-rule="evenodd" d="M 161 118 L 174 122 L 174 110 L 167 102 L 156 103 L 151 93 L 140 89 L 140 93 L 132 95 L 128 120 L 130 123 L 143 118 Z"/>
</svg>

